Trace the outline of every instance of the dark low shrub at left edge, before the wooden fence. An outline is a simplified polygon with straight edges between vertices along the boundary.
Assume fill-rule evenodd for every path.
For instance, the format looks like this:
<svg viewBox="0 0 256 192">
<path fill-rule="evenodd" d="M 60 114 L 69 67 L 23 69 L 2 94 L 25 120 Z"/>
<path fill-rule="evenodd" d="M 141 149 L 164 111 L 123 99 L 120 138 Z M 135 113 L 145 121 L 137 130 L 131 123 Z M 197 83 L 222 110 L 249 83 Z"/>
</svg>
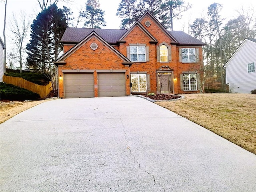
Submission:
<svg viewBox="0 0 256 192">
<path fill-rule="evenodd" d="M 1 83 L 0 86 L 1 100 L 24 101 L 40 99 L 40 95 L 24 88 L 20 88 L 6 83 Z"/>
</svg>

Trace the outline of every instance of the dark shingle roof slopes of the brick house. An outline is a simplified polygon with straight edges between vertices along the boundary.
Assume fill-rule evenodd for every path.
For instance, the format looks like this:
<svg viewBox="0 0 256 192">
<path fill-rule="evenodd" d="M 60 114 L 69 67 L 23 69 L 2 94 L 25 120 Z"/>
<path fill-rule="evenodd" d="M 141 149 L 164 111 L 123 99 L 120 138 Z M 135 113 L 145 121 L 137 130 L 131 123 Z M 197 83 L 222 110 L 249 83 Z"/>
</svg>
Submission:
<svg viewBox="0 0 256 192">
<path fill-rule="evenodd" d="M 61 42 L 80 42 L 92 31 L 95 31 L 108 43 L 116 43 L 127 30 L 120 29 L 91 29 L 91 28 L 67 28 Z M 205 45 L 205 43 L 184 33 L 183 31 L 169 31 L 169 33 L 182 45 Z"/>
</svg>

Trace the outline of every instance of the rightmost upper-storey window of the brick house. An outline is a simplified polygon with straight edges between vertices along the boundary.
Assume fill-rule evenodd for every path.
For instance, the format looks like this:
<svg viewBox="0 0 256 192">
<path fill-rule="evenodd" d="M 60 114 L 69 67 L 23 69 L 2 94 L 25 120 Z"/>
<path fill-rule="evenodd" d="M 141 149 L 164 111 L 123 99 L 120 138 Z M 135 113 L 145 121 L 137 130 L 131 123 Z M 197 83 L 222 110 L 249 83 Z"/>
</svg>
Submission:
<svg viewBox="0 0 256 192">
<path fill-rule="evenodd" d="M 179 48 L 180 62 L 196 63 L 199 61 L 199 48 Z"/>
</svg>

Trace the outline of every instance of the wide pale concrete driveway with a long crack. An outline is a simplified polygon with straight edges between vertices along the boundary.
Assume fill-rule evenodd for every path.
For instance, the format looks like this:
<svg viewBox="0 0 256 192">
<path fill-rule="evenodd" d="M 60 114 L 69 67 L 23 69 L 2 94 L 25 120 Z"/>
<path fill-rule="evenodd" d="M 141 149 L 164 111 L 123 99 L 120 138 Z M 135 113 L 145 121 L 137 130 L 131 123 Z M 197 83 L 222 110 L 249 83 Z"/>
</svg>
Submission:
<svg viewBox="0 0 256 192">
<path fill-rule="evenodd" d="M 0 126 L 2 192 L 256 191 L 256 155 L 139 97 L 51 100 Z"/>
</svg>

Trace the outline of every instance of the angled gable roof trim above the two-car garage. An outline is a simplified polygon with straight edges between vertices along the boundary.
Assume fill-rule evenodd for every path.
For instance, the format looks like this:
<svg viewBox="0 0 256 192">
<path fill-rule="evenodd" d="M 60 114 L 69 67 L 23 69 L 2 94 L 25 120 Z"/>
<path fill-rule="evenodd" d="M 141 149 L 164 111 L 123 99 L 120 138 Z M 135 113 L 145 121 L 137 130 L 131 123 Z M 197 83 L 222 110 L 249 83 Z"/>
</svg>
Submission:
<svg viewBox="0 0 256 192">
<path fill-rule="evenodd" d="M 114 54 L 116 54 L 120 59 L 122 59 L 124 61 L 122 62 L 122 64 L 127 64 L 127 65 L 132 64 L 132 62 L 128 58 L 126 58 L 126 56 L 124 56 L 123 54 L 118 52 L 118 50 L 116 50 L 113 46 L 108 44 L 108 42 L 106 42 L 102 37 L 100 37 L 94 30 L 92 30 L 92 32 L 88 34 L 88 36 L 86 36 L 83 40 L 81 40 L 78 44 L 76 44 L 76 46 L 68 50 L 68 52 L 66 52 L 64 55 L 62 55 L 53 63 L 57 65 L 65 64 L 66 62 L 64 60 L 66 60 L 66 58 L 72 55 L 76 50 L 78 50 L 81 46 L 83 46 L 86 42 L 88 42 L 93 37 L 95 37 L 97 40 L 102 42 L 102 44 L 104 44 L 108 49 L 110 49 L 112 52 L 114 52 Z"/>
</svg>

